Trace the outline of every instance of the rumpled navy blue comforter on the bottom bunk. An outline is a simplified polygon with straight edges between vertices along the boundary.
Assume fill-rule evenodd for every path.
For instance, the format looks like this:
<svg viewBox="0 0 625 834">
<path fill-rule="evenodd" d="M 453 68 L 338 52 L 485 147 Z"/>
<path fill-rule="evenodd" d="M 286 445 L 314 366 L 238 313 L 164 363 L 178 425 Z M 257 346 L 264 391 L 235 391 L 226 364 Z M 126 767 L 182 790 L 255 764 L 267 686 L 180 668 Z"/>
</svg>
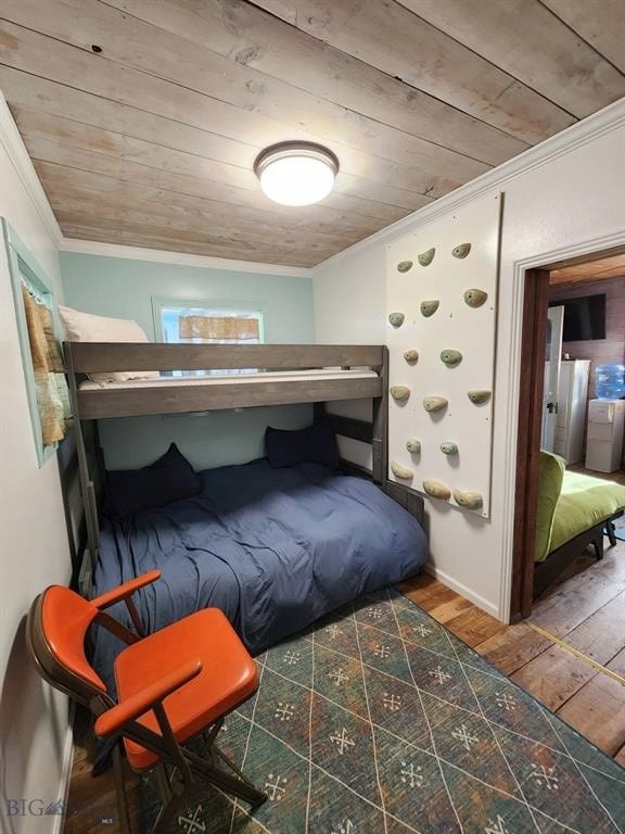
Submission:
<svg viewBox="0 0 625 834">
<path fill-rule="evenodd" d="M 163 572 L 136 595 L 150 632 L 216 606 L 255 654 L 428 556 L 417 520 L 360 478 L 265 459 L 200 475 L 196 497 L 102 527 L 97 594 Z M 112 614 L 127 621 L 122 606 Z M 122 644 L 98 631 L 94 662 L 110 682 Z"/>
</svg>

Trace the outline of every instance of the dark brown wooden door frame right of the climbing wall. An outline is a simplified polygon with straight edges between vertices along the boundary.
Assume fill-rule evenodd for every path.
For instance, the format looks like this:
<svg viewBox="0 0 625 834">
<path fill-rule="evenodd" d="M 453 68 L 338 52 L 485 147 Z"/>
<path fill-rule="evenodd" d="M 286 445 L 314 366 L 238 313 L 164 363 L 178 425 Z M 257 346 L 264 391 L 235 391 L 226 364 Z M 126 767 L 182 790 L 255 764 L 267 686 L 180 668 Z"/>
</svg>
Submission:
<svg viewBox="0 0 625 834">
<path fill-rule="evenodd" d="M 549 264 L 544 268 L 530 269 L 525 273 L 520 372 L 522 394 L 518 424 L 511 592 L 512 619 L 526 618 L 533 609 L 541 439 L 551 443 L 556 452 L 559 451 L 558 442 L 561 440 L 558 437 L 557 416 L 559 410 L 557 377 L 561 370 L 562 356 L 562 348 L 558 343 L 558 317 L 561 314 L 551 314 L 551 321 L 549 321 L 550 300 L 554 307 L 562 306 L 557 303 L 557 296 L 563 294 L 565 288 L 574 288 L 575 292 L 583 294 L 579 292 L 583 281 L 597 282 L 621 277 L 625 280 L 625 249 L 622 247 L 617 250 L 597 253 L 591 257 L 585 256 L 574 262 Z M 556 287 L 558 292 L 553 291 Z M 613 314 L 614 311 L 612 311 Z M 547 354 L 549 330 L 550 344 L 553 345 L 550 355 Z M 563 332 L 563 338 L 565 336 L 566 333 Z M 625 352 L 623 348 L 625 333 L 621 339 L 621 348 Z M 562 342 L 565 353 L 566 344 L 566 341 Z M 621 361 L 625 362 L 625 357 Z M 589 379 L 589 382 L 592 380 Z M 584 413 L 586 413 L 586 404 L 584 404 Z"/>
</svg>

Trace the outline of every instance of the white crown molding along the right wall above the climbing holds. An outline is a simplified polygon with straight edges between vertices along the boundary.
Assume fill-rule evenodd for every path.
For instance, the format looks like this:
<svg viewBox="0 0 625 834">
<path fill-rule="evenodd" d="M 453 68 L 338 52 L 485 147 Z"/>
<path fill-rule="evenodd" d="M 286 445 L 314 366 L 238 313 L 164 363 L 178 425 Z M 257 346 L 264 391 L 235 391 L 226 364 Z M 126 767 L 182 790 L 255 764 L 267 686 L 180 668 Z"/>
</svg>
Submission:
<svg viewBox="0 0 625 834">
<path fill-rule="evenodd" d="M 482 174 L 455 191 L 439 197 L 433 203 L 403 217 L 400 220 L 386 226 L 368 238 L 354 243 L 348 249 L 337 252 L 335 255 L 322 261 L 312 267 L 312 274 L 322 271 L 324 267 L 333 265 L 345 257 L 362 253 L 373 247 L 386 245 L 397 238 L 414 231 L 425 223 L 446 214 L 449 211 L 471 202 L 481 194 L 492 190 L 502 190 L 502 187 L 518 177 L 536 168 L 549 164 L 559 156 L 598 139 L 604 134 L 610 134 L 625 126 L 625 98 L 609 104 L 603 110 L 587 116 L 582 122 L 565 128 L 556 136 L 546 139 L 540 144 L 530 148 L 508 162 L 501 163 L 496 168 Z"/>
</svg>

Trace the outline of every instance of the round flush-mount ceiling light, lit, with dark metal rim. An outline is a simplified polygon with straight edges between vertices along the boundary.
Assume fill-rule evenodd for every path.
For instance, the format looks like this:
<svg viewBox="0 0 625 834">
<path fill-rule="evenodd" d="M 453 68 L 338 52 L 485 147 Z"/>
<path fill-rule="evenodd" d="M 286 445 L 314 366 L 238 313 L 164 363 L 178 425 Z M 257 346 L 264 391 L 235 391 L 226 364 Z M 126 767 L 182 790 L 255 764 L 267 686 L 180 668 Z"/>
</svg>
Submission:
<svg viewBox="0 0 625 834">
<path fill-rule="evenodd" d="M 328 197 L 339 172 L 332 151 L 314 142 L 281 142 L 254 163 L 264 193 L 282 205 L 310 205 Z"/>
</svg>

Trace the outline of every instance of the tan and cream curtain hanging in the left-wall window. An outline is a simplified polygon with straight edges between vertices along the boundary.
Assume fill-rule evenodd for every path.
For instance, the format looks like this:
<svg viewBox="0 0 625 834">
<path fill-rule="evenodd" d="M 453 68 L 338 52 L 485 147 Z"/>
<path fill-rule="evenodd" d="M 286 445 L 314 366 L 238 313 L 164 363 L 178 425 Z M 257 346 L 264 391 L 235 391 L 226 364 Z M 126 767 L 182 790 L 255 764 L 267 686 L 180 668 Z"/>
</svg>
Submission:
<svg viewBox="0 0 625 834">
<path fill-rule="evenodd" d="M 50 309 L 24 286 L 22 298 L 35 370 L 41 434 L 43 445 L 51 446 L 65 437 L 71 414 L 63 361 L 54 338 Z"/>
</svg>

